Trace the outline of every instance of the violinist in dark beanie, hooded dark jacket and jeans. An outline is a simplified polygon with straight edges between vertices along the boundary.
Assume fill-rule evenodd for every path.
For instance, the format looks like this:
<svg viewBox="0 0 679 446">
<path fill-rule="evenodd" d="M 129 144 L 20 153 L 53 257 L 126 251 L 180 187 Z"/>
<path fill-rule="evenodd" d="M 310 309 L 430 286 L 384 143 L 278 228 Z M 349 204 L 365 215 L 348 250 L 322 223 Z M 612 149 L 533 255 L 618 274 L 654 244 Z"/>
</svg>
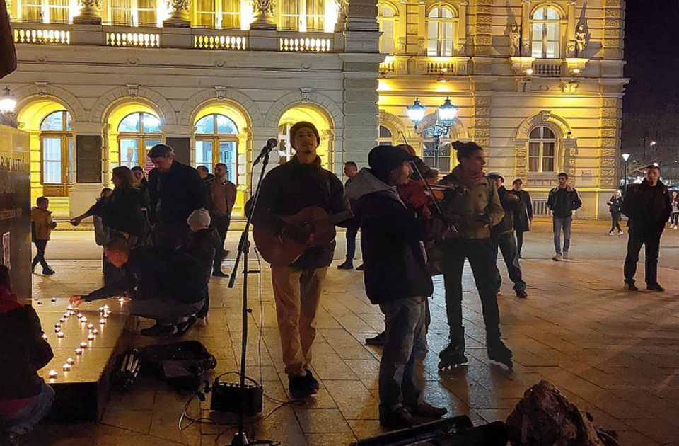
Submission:
<svg viewBox="0 0 679 446">
<path fill-rule="evenodd" d="M 361 222 L 368 299 L 385 315 L 386 336 L 380 361 L 380 423 L 406 428 L 414 418 L 439 418 L 447 413 L 422 401 L 422 385 L 415 361 L 426 345 L 426 297 L 434 285 L 426 270 L 423 241 L 434 239 L 445 224 L 408 207 L 397 186 L 410 181 L 414 156 L 391 146 L 378 146 L 368 154 L 363 168 L 347 186 L 356 200 Z"/>
</svg>

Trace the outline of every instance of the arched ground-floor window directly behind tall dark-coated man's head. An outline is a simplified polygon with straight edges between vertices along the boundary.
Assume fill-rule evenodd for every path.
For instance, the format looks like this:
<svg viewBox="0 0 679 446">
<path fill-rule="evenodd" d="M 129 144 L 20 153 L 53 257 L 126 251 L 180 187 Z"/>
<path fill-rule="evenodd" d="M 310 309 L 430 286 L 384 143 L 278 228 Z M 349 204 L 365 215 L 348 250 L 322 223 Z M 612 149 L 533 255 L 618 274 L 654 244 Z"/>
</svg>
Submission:
<svg viewBox="0 0 679 446">
<path fill-rule="evenodd" d="M 146 152 L 161 144 L 161 120 L 151 113 L 132 113 L 118 125 L 120 166 L 146 166 Z M 150 164 L 149 164 L 150 166 Z M 146 166 L 148 169 L 149 166 Z"/>
</svg>

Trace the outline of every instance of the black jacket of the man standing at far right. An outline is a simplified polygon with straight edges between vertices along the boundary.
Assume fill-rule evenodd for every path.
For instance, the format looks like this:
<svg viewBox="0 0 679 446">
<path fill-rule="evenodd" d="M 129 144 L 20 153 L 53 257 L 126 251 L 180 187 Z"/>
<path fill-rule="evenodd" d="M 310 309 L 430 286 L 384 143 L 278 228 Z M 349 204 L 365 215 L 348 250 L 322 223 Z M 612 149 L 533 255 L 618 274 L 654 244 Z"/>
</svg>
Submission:
<svg viewBox="0 0 679 446">
<path fill-rule="evenodd" d="M 629 232 L 634 234 L 662 234 L 670 217 L 670 193 L 661 182 L 652 187 L 646 179 L 627 188 L 622 200 L 622 213 L 629 220 Z"/>
</svg>

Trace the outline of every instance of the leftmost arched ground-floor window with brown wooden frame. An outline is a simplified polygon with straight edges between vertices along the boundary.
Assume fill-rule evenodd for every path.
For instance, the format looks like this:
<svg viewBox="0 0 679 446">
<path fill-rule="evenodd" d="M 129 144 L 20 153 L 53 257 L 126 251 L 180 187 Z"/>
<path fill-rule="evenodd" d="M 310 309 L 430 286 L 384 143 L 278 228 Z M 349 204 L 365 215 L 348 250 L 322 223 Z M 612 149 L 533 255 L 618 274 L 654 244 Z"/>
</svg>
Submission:
<svg viewBox="0 0 679 446">
<path fill-rule="evenodd" d="M 71 115 L 66 110 L 50 113 L 40 124 L 43 194 L 66 197 L 74 183 L 75 153 Z"/>
</svg>

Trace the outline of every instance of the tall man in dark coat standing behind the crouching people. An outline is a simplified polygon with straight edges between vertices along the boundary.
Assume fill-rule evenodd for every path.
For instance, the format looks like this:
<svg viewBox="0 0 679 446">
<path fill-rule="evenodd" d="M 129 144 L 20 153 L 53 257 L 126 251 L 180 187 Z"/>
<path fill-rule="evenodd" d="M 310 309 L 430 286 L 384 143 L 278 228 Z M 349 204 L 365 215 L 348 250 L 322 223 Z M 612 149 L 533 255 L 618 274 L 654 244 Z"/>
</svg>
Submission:
<svg viewBox="0 0 679 446">
<path fill-rule="evenodd" d="M 149 151 L 155 168 L 149 172 L 149 220 L 154 224 L 157 246 L 176 248 L 186 241 L 186 219 L 194 210 L 207 207 L 205 188 L 195 168 L 175 160 L 175 151 L 156 144 Z"/>
</svg>

